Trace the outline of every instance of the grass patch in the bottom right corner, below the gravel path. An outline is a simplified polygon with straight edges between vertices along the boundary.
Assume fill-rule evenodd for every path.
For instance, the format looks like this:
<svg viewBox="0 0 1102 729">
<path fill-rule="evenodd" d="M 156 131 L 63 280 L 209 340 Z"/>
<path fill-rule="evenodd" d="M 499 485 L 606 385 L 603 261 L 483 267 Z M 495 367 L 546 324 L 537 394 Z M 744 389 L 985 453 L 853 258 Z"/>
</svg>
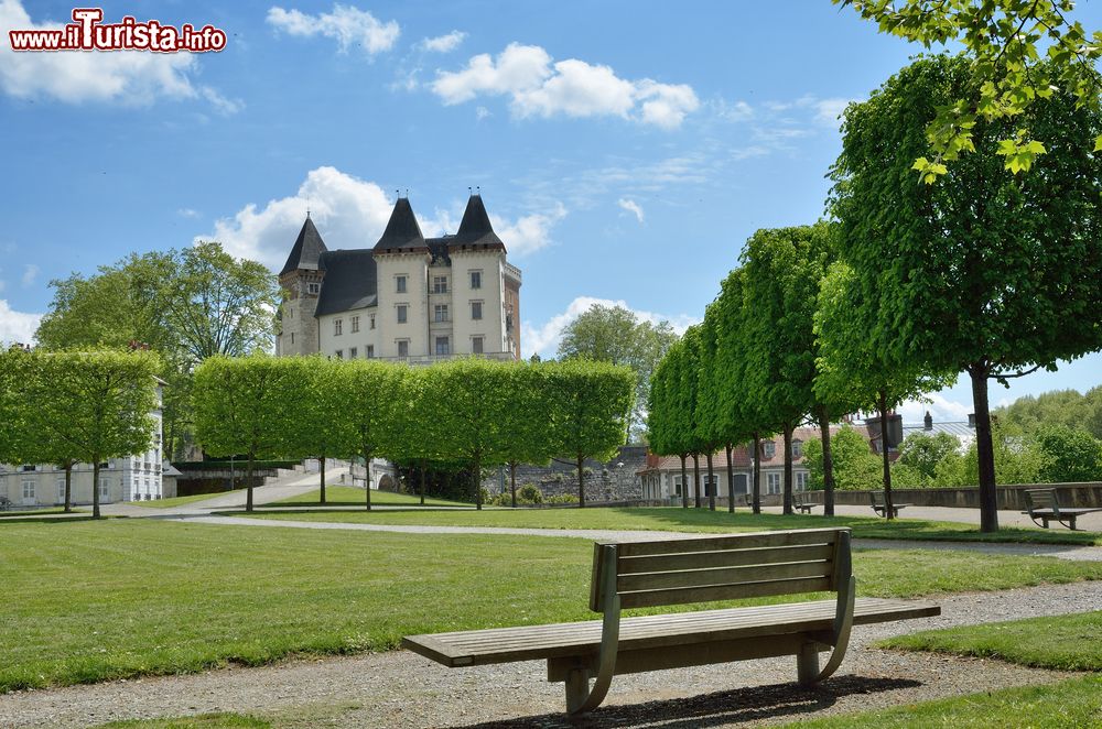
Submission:
<svg viewBox="0 0 1102 729">
<path fill-rule="evenodd" d="M 1005 688 L 785 726 L 801 729 L 1098 727 L 1102 726 L 1102 676 L 1069 678 L 1048 686 Z"/>
</svg>

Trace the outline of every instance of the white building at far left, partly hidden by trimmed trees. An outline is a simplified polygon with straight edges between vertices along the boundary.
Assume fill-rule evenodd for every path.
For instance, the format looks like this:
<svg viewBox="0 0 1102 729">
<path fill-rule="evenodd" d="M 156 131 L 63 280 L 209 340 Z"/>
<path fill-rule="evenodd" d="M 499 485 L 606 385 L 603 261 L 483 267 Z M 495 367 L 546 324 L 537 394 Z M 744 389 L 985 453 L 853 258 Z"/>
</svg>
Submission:
<svg viewBox="0 0 1102 729">
<path fill-rule="evenodd" d="M 99 469 L 99 502 L 152 501 L 162 498 L 161 402 L 163 382 L 156 385 L 153 439 L 145 453 L 111 458 Z M 73 467 L 72 502 L 91 503 L 91 464 Z M 52 507 L 65 503 L 65 469 L 51 464 L 0 464 L 0 497 L 14 507 Z"/>
</svg>

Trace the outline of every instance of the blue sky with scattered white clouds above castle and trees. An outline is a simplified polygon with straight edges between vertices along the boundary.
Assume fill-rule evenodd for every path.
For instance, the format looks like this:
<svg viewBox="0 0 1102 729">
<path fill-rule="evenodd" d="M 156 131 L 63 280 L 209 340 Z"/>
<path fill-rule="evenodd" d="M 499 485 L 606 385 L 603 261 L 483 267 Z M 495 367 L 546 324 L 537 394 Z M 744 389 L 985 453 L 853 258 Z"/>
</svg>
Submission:
<svg viewBox="0 0 1102 729">
<path fill-rule="evenodd" d="M 397 194 L 440 235 L 474 188 L 523 271 L 526 357 L 594 303 L 680 331 L 755 230 L 823 215 L 838 115 L 920 52 L 829 0 L 100 7 L 226 44 L 15 53 L 74 6 L 0 0 L 0 341 L 30 340 L 51 280 L 130 252 L 219 240 L 278 271 L 307 208 L 366 248 Z M 1099 383 L 1094 353 L 991 401 Z M 905 421 L 972 412 L 966 380 L 930 398 Z"/>
</svg>

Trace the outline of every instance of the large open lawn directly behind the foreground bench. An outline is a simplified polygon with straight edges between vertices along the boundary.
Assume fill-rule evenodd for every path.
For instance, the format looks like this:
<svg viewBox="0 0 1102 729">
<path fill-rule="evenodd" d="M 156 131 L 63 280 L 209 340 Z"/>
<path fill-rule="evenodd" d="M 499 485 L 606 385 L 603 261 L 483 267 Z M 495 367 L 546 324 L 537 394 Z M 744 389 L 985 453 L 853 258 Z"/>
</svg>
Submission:
<svg viewBox="0 0 1102 729">
<path fill-rule="evenodd" d="M 0 693 L 593 617 L 587 540 L 133 519 L 11 523 L 3 536 Z M 1102 563 L 957 552 L 854 563 L 858 594 L 879 597 L 1102 579 Z"/>
</svg>

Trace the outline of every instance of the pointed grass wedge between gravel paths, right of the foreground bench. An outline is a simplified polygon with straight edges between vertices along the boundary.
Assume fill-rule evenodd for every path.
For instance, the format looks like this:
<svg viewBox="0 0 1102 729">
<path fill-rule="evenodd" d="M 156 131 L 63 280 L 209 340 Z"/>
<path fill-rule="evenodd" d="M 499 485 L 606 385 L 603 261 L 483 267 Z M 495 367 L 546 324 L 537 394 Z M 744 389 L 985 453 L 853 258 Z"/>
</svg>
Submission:
<svg viewBox="0 0 1102 729">
<path fill-rule="evenodd" d="M 880 645 L 998 659 L 1039 668 L 1102 671 L 1102 611 L 929 630 Z"/>
</svg>

